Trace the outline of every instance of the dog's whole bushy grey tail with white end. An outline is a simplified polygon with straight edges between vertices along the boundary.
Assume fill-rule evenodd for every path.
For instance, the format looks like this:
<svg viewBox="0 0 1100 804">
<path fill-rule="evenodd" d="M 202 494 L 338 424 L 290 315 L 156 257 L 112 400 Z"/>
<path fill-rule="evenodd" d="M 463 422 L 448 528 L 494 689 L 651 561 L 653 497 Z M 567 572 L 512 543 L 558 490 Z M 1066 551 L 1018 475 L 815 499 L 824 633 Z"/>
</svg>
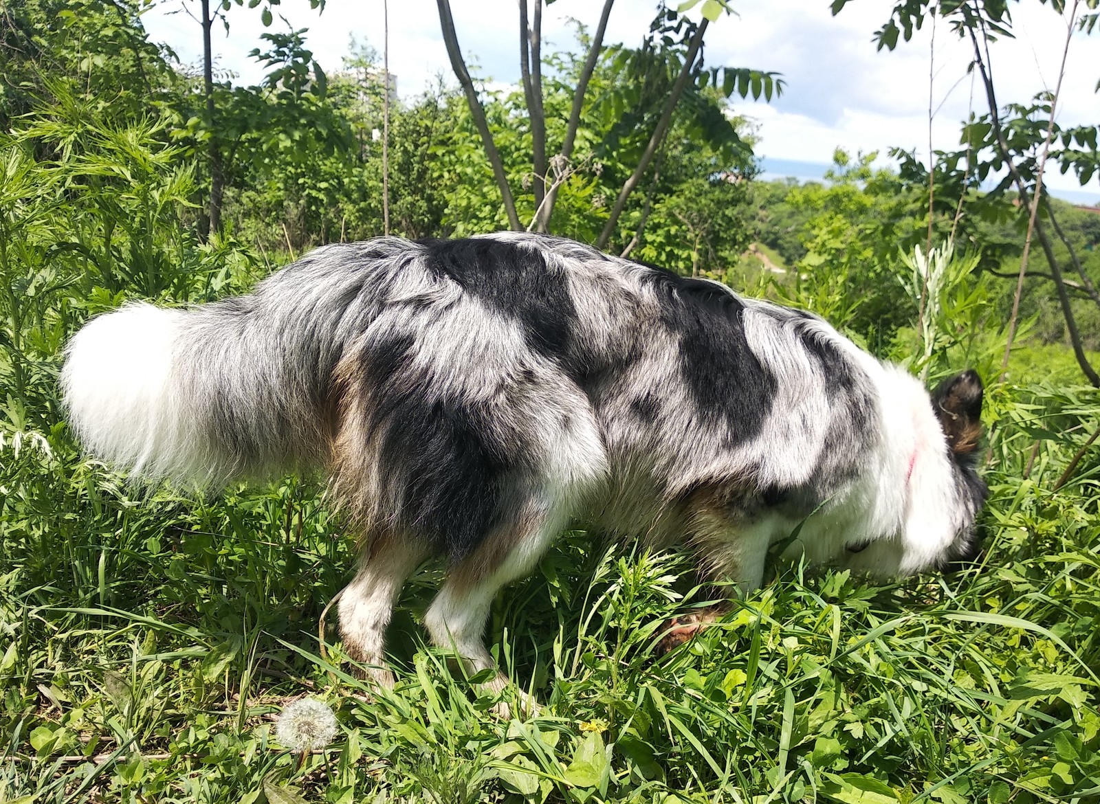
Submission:
<svg viewBox="0 0 1100 804">
<path fill-rule="evenodd" d="M 138 478 L 209 486 L 327 463 L 333 370 L 365 326 L 362 285 L 332 264 L 304 260 L 251 296 L 92 319 L 61 376 L 85 449 Z"/>
</svg>

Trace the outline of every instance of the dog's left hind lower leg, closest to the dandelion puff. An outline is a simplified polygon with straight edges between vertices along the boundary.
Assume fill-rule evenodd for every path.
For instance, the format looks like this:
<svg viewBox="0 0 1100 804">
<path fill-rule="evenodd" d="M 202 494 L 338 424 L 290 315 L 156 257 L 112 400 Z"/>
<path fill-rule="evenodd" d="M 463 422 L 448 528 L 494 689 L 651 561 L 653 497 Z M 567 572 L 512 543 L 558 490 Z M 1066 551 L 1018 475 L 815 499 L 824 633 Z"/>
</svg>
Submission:
<svg viewBox="0 0 1100 804">
<path fill-rule="evenodd" d="M 362 662 L 367 675 L 380 685 L 394 685 L 394 674 L 383 653 L 394 604 L 405 580 L 428 552 L 426 544 L 411 539 L 377 538 L 363 551 L 354 580 L 340 593 L 344 650 Z"/>
</svg>

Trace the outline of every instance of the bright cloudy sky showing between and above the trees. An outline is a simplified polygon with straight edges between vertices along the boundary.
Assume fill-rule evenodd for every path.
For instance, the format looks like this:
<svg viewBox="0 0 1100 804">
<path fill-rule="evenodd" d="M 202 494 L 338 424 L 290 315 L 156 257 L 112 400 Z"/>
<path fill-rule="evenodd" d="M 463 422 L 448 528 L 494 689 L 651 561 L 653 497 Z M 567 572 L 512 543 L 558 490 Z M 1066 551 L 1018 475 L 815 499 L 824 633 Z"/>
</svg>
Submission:
<svg viewBox="0 0 1100 804">
<path fill-rule="evenodd" d="M 202 38 L 188 14 L 196 0 L 161 0 L 144 14 L 151 38 L 168 44 L 184 65 L 201 63 Z M 578 20 L 595 27 L 602 2 L 557 0 L 543 13 L 543 53 L 574 46 Z M 670 3 L 674 4 L 674 3 Z M 960 122 L 969 109 L 986 110 L 980 81 L 972 85 L 966 69 L 969 46 L 942 22 L 901 41 L 893 52 L 876 51 L 871 36 L 887 21 L 893 3 L 851 0 L 837 15 L 828 0 L 733 0 L 735 15 L 712 24 L 705 38 L 705 58 L 712 66 L 752 67 L 782 74 L 787 88 L 772 102 L 740 101 L 734 111 L 754 121 L 766 177 L 793 175 L 817 178 L 833 151 L 878 152 L 877 164 L 889 165 L 888 148 L 928 154 L 928 95 L 935 114 L 934 150 L 954 150 Z M 490 86 L 519 80 L 518 12 L 516 0 L 452 0 L 455 30 L 466 63 Z M 998 100 L 1026 103 L 1043 89 L 1053 89 L 1066 42 L 1065 18 L 1048 3 L 1035 0 L 1012 4 L 1014 40 L 992 45 L 991 60 Z M 654 0 L 617 0 L 605 43 L 637 45 L 653 18 Z M 381 53 L 382 0 L 328 0 L 323 12 L 307 0 L 283 0 L 271 30 L 308 27 L 307 45 L 327 70 L 341 67 L 351 40 Z M 697 13 L 697 12 L 696 12 Z M 234 81 L 256 84 L 263 71 L 249 58 L 266 30 L 260 9 L 233 5 L 229 34 L 215 30 L 216 68 L 232 73 Z M 934 37 L 934 38 L 933 38 Z M 931 59 L 930 59 L 931 56 Z M 397 75 L 398 93 L 410 98 L 442 77 L 454 84 L 431 0 L 389 2 L 389 69 Z M 1096 124 L 1100 120 L 1100 34 L 1075 33 L 1063 79 L 1057 120 L 1060 125 Z M 971 99 L 972 87 L 972 99 Z M 1100 176 L 1081 187 L 1072 174 L 1056 170 L 1045 180 L 1054 195 L 1077 203 L 1100 205 Z"/>
</svg>

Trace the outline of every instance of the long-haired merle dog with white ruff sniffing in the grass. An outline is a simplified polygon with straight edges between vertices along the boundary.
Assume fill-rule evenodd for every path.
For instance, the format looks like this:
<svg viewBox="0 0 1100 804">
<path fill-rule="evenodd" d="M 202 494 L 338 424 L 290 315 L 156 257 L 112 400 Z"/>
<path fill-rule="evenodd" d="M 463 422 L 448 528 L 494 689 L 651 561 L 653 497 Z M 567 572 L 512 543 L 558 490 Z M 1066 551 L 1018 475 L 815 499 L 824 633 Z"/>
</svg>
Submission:
<svg viewBox="0 0 1100 804">
<path fill-rule="evenodd" d="M 138 476 L 329 470 L 362 544 L 341 634 L 383 683 L 432 554 L 425 624 L 480 670 L 496 592 L 571 520 L 751 590 L 803 520 L 812 562 L 936 568 L 986 496 L 974 372 L 930 398 L 813 315 L 543 235 L 327 245 L 249 296 L 130 305 L 74 338 L 62 387 L 87 449 Z"/>
</svg>

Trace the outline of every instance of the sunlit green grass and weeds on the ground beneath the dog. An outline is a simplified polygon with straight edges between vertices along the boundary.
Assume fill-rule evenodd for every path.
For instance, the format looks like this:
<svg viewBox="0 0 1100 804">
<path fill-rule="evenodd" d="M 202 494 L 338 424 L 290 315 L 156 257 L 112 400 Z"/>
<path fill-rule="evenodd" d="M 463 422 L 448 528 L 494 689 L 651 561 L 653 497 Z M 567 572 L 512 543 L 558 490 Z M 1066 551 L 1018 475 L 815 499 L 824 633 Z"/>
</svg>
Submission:
<svg viewBox="0 0 1100 804">
<path fill-rule="evenodd" d="M 510 719 L 424 647 L 439 566 L 402 599 L 393 693 L 366 696 L 331 621 L 322 658 L 351 539 L 318 482 L 140 496 L 63 427 L 8 432 L 0 801 L 1098 801 L 1096 450 L 1048 491 L 1097 398 L 1052 393 L 994 395 L 987 551 L 960 574 L 779 566 L 658 657 L 704 603 L 690 560 L 565 535 L 494 606 L 490 640 L 542 704 Z M 300 760 L 272 717 L 304 694 L 340 731 Z"/>
</svg>

